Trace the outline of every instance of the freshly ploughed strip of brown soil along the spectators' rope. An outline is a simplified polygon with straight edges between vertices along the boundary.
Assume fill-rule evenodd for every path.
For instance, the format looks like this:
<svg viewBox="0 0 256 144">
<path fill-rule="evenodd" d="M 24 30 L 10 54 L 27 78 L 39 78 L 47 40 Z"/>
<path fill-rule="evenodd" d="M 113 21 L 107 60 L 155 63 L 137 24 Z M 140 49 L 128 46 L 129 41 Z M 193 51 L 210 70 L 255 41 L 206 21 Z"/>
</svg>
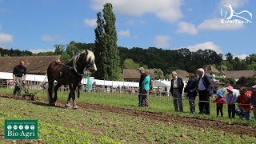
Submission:
<svg viewBox="0 0 256 144">
<path fill-rule="evenodd" d="M 1 97 L 4 98 L 14 98 L 10 94 L 0 94 Z M 18 99 L 18 98 L 14 98 Z M 41 103 L 41 105 L 48 106 L 47 99 L 44 98 L 35 98 L 36 100 L 33 103 Z M 57 106 L 62 107 L 64 101 L 58 99 Z M 233 134 L 247 134 L 253 137 L 256 137 L 256 126 L 247 126 L 246 124 L 231 124 L 230 122 L 223 122 L 218 120 L 211 119 L 203 119 L 203 118 L 194 118 L 194 117 L 185 117 L 179 116 L 175 114 L 161 114 L 154 113 L 150 111 L 142 111 L 142 110 L 133 110 L 133 109 L 125 109 L 118 108 L 114 106 L 103 106 L 98 104 L 79 102 L 79 109 L 84 110 L 102 110 L 108 111 L 117 114 L 127 114 L 136 117 L 147 118 L 154 121 L 166 122 L 166 123 L 178 123 L 184 126 L 196 126 L 202 129 L 211 128 L 215 130 L 222 130 L 228 133 Z"/>
</svg>

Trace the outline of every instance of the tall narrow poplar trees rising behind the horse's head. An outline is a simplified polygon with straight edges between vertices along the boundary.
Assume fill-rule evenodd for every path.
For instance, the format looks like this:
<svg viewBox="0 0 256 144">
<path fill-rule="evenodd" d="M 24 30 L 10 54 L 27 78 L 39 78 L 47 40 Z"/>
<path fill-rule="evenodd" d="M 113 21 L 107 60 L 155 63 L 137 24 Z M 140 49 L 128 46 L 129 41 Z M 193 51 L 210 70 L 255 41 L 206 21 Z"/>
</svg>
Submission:
<svg viewBox="0 0 256 144">
<path fill-rule="evenodd" d="M 110 3 L 106 3 L 103 8 L 103 18 L 101 13 L 97 14 L 97 28 L 95 31 L 95 55 L 96 71 L 95 77 L 106 80 L 121 80 L 120 57 L 117 46 L 117 32 L 115 30 L 115 16 Z"/>
</svg>

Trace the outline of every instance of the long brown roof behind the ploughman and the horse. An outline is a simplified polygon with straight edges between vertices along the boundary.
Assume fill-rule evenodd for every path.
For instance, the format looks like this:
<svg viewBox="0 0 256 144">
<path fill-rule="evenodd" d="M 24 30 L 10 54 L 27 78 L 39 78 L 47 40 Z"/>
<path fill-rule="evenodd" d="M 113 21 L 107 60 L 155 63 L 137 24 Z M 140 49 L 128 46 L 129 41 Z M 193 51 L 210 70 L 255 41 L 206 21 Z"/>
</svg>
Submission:
<svg viewBox="0 0 256 144">
<path fill-rule="evenodd" d="M 58 61 L 60 55 L 53 56 L 26 56 L 26 57 L 0 57 L 0 72 L 12 73 L 14 66 L 24 61 L 27 74 L 46 74 L 50 62 Z"/>
</svg>

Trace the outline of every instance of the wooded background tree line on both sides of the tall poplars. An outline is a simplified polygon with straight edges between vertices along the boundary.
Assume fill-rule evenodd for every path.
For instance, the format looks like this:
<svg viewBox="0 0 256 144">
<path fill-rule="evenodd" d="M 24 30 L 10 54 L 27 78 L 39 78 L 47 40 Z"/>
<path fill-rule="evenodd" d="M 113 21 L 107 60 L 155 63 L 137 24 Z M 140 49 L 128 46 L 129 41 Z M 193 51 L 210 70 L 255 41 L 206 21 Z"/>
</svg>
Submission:
<svg viewBox="0 0 256 144">
<path fill-rule="evenodd" d="M 43 56 L 62 55 L 62 61 L 67 62 L 72 58 L 73 52 L 79 53 L 81 50 L 95 50 L 94 43 L 70 42 L 65 45 L 55 45 L 54 51 L 40 52 L 33 54 L 28 50 L 7 50 L 0 47 L 0 54 L 5 56 Z M 179 50 L 162 50 L 155 47 L 143 49 L 140 47 L 118 46 L 121 68 L 138 68 L 144 66 L 150 69 L 160 69 L 164 74 L 170 74 L 172 70 L 186 70 L 194 73 L 199 67 L 213 65 L 218 70 L 256 70 L 256 54 L 250 54 L 246 59 L 233 57 L 231 53 L 226 54 L 223 59 L 222 54 L 217 54 L 214 50 L 198 50 L 195 52 L 182 48 Z M 95 55 L 97 58 L 97 55 Z M 106 55 L 107 57 L 107 55 Z"/>
</svg>

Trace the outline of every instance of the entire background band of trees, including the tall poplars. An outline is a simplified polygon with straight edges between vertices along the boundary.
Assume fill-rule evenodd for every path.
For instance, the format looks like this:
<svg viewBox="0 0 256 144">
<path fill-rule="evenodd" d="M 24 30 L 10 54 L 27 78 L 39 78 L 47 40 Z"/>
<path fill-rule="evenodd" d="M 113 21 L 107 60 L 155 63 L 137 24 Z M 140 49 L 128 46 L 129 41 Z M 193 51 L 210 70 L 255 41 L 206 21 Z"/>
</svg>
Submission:
<svg viewBox="0 0 256 144">
<path fill-rule="evenodd" d="M 1 56 L 42 56 L 61 55 L 62 62 L 67 62 L 81 50 L 92 50 L 95 62 L 99 67 L 95 78 L 120 80 L 122 69 L 137 69 L 139 66 L 154 69 L 155 78 L 169 78 L 173 70 L 186 70 L 195 73 L 200 67 L 213 65 L 221 71 L 226 70 L 256 70 L 256 54 L 250 54 L 246 59 L 234 57 L 231 53 L 217 54 L 214 50 L 190 51 L 186 47 L 178 50 L 162 50 L 161 48 L 140 47 L 127 48 L 117 46 L 115 16 L 110 3 L 103 6 L 102 12 L 96 14 L 97 26 L 94 30 L 94 43 L 71 41 L 67 45 L 54 45 L 54 51 L 32 54 L 27 50 L 6 50 L 0 48 Z M 102 14 L 103 13 L 103 14 Z M 200 48 L 200 47 L 199 47 Z"/>
</svg>

